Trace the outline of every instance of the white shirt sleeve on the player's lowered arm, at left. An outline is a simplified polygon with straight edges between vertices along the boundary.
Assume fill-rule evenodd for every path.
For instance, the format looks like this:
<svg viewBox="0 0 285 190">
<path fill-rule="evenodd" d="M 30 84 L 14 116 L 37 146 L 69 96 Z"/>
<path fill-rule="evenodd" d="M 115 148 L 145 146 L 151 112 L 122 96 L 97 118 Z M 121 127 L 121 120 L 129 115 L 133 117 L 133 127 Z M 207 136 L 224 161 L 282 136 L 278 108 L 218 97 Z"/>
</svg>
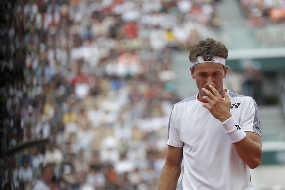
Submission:
<svg viewBox="0 0 285 190">
<path fill-rule="evenodd" d="M 174 106 L 168 124 L 168 142 L 167 145 L 181 148 L 183 142 L 180 140 L 180 130 L 179 130 L 179 116 L 177 116 L 177 110 Z"/>
</svg>

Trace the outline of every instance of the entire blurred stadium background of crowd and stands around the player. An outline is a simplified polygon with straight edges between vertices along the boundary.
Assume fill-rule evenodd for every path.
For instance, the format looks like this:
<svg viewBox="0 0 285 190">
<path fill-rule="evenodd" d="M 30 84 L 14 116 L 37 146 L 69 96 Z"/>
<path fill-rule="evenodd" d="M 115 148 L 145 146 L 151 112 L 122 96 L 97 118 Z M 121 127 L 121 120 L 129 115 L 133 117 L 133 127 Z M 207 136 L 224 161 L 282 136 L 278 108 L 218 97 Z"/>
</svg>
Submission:
<svg viewBox="0 0 285 190">
<path fill-rule="evenodd" d="M 0 189 L 156 190 L 172 105 L 197 93 L 189 50 L 212 37 L 225 88 L 259 107 L 252 183 L 285 190 L 285 0 L 0 5 Z"/>
</svg>

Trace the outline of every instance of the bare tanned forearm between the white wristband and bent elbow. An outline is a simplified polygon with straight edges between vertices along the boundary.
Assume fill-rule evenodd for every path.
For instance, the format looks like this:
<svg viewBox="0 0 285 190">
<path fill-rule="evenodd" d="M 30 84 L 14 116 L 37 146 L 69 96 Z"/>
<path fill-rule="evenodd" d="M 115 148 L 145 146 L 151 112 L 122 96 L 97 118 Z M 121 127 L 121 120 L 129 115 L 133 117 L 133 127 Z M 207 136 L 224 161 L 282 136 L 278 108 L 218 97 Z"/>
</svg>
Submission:
<svg viewBox="0 0 285 190">
<path fill-rule="evenodd" d="M 259 166 L 262 157 L 261 145 L 246 136 L 239 142 L 233 143 L 238 156 L 249 168 L 254 169 Z"/>
</svg>

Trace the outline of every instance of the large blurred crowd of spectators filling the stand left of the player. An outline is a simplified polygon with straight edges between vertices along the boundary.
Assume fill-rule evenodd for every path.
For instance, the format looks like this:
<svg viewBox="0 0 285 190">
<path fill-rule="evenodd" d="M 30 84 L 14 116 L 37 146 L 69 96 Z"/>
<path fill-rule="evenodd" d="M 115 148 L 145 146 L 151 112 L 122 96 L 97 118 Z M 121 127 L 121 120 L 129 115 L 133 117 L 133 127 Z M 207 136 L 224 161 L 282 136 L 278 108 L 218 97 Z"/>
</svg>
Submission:
<svg viewBox="0 0 285 190">
<path fill-rule="evenodd" d="M 1 3 L 1 189 L 156 189 L 171 50 L 222 25 L 215 2 Z"/>
</svg>

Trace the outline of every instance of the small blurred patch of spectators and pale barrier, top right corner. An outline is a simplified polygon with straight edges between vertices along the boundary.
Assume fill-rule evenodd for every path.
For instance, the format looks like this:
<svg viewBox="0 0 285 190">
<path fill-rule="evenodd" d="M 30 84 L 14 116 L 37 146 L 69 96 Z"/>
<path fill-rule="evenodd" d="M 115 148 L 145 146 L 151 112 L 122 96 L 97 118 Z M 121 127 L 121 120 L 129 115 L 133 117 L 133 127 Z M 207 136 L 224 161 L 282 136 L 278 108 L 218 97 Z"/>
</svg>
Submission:
<svg viewBox="0 0 285 190">
<path fill-rule="evenodd" d="M 238 1 L 260 47 L 285 46 L 285 0 Z"/>
</svg>

